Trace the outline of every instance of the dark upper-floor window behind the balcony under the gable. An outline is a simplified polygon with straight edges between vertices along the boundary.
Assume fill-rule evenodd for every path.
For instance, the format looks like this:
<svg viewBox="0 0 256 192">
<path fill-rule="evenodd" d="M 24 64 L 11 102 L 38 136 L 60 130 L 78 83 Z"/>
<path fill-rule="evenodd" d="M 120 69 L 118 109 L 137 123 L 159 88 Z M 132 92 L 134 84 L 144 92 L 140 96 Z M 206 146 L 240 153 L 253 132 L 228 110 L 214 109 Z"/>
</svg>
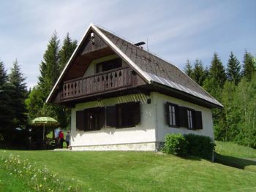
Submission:
<svg viewBox="0 0 256 192">
<path fill-rule="evenodd" d="M 121 67 L 121 58 L 115 58 L 110 61 L 104 61 L 102 63 L 97 64 L 96 72 L 106 72 L 119 67 Z"/>
</svg>

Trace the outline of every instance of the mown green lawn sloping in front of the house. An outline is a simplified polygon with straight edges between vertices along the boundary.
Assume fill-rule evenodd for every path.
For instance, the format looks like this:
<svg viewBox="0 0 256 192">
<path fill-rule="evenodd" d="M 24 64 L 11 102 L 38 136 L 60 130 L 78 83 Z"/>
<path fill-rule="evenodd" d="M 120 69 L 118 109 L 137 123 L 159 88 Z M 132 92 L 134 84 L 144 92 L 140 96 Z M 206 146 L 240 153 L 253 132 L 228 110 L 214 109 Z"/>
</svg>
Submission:
<svg viewBox="0 0 256 192">
<path fill-rule="evenodd" d="M 252 161 L 256 150 L 232 143 L 217 142 L 218 160 L 224 159 L 231 166 L 151 152 L 0 150 L 0 158 L 7 158 L 10 153 L 36 162 L 38 169 L 46 165 L 67 185 L 78 183 L 78 191 L 256 191 L 256 164 L 242 161 Z M 236 160 L 240 160 L 237 164 L 243 163 L 241 169 L 233 167 Z M 0 179 L 0 191 L 27 188 L 18 177 L 2 171 L 0 176 L 4 177 Z M 8 180 L 17 184 L 13 190 Z"/>
</svg>

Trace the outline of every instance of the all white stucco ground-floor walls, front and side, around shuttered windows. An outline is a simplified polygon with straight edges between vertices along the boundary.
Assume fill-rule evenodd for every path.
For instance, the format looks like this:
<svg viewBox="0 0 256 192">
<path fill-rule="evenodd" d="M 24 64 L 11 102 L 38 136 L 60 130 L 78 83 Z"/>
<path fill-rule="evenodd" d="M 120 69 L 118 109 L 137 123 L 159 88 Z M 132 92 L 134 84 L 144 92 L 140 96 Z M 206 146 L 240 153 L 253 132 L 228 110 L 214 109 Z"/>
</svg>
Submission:
<svg viewBox="0 0 256 192">
<path fill-rule="evenodd" d="M 151 99 L 151 104 L 147 104 Z M 140 101 L 140 124 L 132 128 L 105 127 L 99 131 L 76 130 L 76 111 L 91 107 L 106 107 L 129 101 Z M 173 128 L 165 120 L 165 104 L 169 101 L 179 106 L 202 112 L 203 129 L 192 131 Z M 77 104 L 72 109 L 71 146 L 73 150 L 156 150 L 156 142 L 164 142 L 169 133 L 200 134 L 214 138 L 211 110 L 181 99 L 152 92 L 150 96 L 132 94 L 102 101 Z"/>
</svg>

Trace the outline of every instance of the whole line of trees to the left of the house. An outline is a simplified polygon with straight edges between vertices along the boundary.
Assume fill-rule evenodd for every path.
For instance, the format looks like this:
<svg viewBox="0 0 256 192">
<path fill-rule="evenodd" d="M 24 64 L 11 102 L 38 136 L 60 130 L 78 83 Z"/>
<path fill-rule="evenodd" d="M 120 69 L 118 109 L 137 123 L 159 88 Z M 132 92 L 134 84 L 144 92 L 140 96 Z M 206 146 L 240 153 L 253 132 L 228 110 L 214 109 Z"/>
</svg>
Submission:
<svg viewBox="0 0 256 192">
<path fill-rule="evenodd" d="M 0 140 L 16 139 L 17 128 L 29 128 L 29 121 L 40 116 L 56 118 L 62 128 L 69 125 L 69 110 L 45 104 L 45 100 L 76 47 L 77 41 L 69 34 L 60 45 L 58 34 L 54 32 L 39 64 L 37 85 L 29 90 L 18 61 L 15 60 L 10 74 L 0 61 Z"/>
</svg>

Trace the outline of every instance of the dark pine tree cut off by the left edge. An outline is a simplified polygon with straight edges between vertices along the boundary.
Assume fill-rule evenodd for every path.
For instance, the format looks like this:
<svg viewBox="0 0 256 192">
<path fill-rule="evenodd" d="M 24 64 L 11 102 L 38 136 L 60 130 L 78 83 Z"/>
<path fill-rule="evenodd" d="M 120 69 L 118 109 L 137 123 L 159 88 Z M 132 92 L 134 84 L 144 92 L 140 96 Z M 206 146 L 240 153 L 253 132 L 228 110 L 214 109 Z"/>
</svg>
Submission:
<svg viewBox="0 0 256 192">
<path fill-rule="evenodd" d="M 7 130 L 12 126 L 13 112 L 10 108 L 10 86 L 4 63 L 0 61 L 0 133 L 7 135 Z"/>
</svg>

